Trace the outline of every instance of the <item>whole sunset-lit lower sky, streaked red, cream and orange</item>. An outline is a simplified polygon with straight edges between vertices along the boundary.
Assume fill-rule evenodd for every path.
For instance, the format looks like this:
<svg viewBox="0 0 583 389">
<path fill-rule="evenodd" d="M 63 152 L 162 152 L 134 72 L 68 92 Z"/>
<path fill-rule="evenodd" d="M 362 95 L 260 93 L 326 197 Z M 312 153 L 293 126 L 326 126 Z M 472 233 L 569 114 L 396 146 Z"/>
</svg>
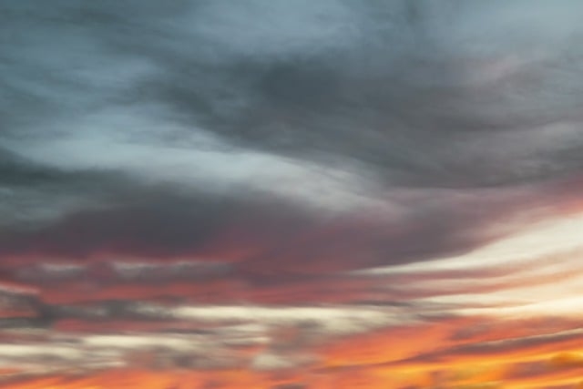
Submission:
<svg viewBox="0 0 583 389">
<path fill-rule="evenodd" d="M 552 238 L 550 232 L 532 236 Z M 462 256 L 441 268 L 429 263 L 273 280 L 245 277 L 238 269 L 194 281 L 140 281 L 105 271 L 86 279 L 56 282 L 56 274 L 26 282 L 15 274 L 39 260 L 12 259 L 0 263 L 8 296 L 0 319 L 13 325 L 0 332 L 0 387 L 581 387 L 581 251 L 574 246 L 563 252 L 562 243 L 557 241 L 556 254 L 544 247 L 528 258 L 530 268 L 513 257 L 507 265 L 482 267 L 478 261 L 466 268 L 474 257 Z M 519 256 L 528 241 L 505 244 L 494 252 Z M 479 251 L 469 255 L 480 259 Z M 84 269 L 93 275 L 100 269 L 96 263 L 87 260 Z M 536 295 L 543 288 L 549 295 Z M 499 300 L 487 300 L 498 292 Z M 452 302 L 432 300 L 444 296 Z M 566 305 L 565 298 L 575 300 Z M 520 313 L 533 302 L 546 305 Z M 46 306 L 54 312 L 46 315 Z M 257 309 L 245 311 L 249 307 Z M 21 331 L 19 320 L 32 329 Z M 209 365 L 197 364 L 205 358 Z"/>
</svg>

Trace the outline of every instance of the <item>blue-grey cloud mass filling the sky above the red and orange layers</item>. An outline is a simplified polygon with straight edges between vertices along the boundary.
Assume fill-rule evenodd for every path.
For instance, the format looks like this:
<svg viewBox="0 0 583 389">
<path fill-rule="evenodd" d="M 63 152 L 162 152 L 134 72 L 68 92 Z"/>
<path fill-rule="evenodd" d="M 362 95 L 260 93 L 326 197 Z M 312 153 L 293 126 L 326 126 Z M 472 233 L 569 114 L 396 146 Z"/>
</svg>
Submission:
<svg viewBox="0 0 583 389">
<path fill-rule="evenodd" d="M 231 239 L 261 266 L 352 269 L 471 249 L 515 184 L 581 167 L 579 8 L 4 2 L 2 250 Z M 397 216 L 357 212 L 379 203 Z"/>
</svg>

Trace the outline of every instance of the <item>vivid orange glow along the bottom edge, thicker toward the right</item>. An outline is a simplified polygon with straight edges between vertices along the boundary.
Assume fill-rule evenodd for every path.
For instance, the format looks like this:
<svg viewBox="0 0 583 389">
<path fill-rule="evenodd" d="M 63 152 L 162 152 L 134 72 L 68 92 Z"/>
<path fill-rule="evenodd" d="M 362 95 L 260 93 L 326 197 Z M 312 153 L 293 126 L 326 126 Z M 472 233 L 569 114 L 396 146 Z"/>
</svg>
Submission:
<svg viewBox="0 0 583 389">
<path fill-rule="evenodd" d="M 583 346 L 580 336 L 551 334 L 548 339 L 529 337 L 517 325 L 498 333 L 503 343 L 476 338 L 452 340 L 476 320 L 450 320 L 431 325 L 395 328 L 322 344 L 317 363 L 286 371 L 219 369 L 108 369 L 86 374 L 28 377 L 18 369 L 5 369 L 2 387 L 13 389 L 191 389 L 272 388 L 305 384 L 314 389 L 336 388 L 530 388 L 581 382 Z M 511 323 L 506 322 L 506 325 Z M 524 330 L 521 333 L 521 329 Z M 493 333 L 494 336 L 495 333 Z M 523 337 L 515 337 L 517 335 Z M 527 337 L 524 337 L 527 335 Z M 506 341 L 504 341 L 506 339 Z M 504 343 L 515 342 L 515 343 Z M 480 352 L 471 347 L 483 345 Z M 468 348 L 470 347 L 470 348 Z M 254 350 L 251 353 L 261 353 Z M 144 361 L 145 356 L 138 355 Z M 138 360 L 135 361 L 139 363 Z M 282 386 L 286 387 L 286 386 Z M 578 386 L 580 387 L 580 386 Z"/>
</svg>

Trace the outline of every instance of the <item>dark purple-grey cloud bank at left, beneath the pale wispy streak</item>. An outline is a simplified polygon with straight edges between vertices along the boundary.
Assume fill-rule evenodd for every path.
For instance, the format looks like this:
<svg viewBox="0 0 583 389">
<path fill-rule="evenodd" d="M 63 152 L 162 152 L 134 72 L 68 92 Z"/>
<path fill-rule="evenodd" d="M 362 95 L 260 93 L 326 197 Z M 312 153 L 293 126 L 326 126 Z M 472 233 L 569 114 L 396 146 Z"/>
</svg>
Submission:
<svg viewBox="0 0 583 389">
<path fill-rule="evenodd" d="M 6 231 L 0 241 L 4 254 L 230 257 L 231 250 L 262 251 L 281 244 L 315 224 L 302 210 L 282 205 L 270 198 L 210 198 L 191 192 L 187 197 L 137 187 L 107 207 L 78 211 L 41 228 Z"/>
</svg>

